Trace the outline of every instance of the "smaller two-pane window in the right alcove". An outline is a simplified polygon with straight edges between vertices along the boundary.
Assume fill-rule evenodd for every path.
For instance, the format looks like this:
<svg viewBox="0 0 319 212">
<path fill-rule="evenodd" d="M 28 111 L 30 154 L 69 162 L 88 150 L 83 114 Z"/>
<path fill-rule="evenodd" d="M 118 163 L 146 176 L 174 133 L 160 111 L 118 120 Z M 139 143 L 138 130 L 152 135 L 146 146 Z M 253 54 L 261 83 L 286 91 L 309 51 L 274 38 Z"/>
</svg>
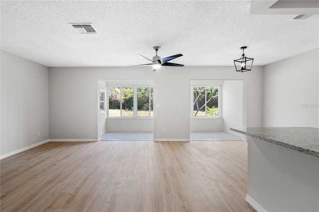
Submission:
<svg viewBox="0 0 319 212">
<path fill-rule="evenodd" d="M 193 86 L 193 117 L 221 117 L 221 85 Z"/>
</svg>

